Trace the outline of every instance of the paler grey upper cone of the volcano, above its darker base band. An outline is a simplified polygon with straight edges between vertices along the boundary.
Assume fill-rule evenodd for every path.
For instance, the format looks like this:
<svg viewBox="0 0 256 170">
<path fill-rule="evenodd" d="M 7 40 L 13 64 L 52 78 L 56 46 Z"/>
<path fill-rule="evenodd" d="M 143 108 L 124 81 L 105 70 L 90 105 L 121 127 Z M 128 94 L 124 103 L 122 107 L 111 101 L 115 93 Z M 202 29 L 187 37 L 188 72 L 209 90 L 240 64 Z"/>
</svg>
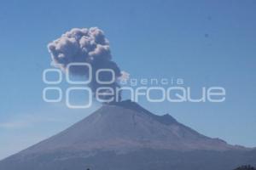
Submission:
<svg viewBox="0 0 256 170">
<path fill-rule="evenodd" d="M 197 133 L 168 114 L 154 115 L 125 100 L 103 105 L 84 120 L 21 153 L 143 149 L 232 150 L 236 147 Z"/>
</svg>

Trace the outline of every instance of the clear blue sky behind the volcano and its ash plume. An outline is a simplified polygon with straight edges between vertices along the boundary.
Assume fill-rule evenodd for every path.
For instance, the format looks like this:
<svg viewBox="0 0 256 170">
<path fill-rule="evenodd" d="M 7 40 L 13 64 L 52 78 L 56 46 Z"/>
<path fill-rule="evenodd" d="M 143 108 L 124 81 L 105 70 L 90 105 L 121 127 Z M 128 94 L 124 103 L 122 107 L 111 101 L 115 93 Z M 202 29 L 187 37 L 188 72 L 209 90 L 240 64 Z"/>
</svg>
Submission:
<svg viewBox="0 0 256 170">
<path fill-rule="evenodd" d="M 3 1 L 0 6 L 0 159 L 94 111 L 42 99 L 47 44 L 73 27 L 101 28 L 131 77 L 181 77 L 222 86 L 221 104 L 140 104 L 230 144 L 256 146 L 256 2 Z"/>
</svg>

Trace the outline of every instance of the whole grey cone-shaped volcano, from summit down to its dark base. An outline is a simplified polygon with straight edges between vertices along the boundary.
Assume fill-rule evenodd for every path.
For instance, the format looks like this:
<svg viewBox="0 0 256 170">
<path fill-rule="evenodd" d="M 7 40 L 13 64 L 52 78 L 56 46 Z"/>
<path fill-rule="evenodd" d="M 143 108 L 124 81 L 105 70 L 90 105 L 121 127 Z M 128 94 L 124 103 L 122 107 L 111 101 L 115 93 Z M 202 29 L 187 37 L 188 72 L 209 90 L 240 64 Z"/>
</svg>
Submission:
<svg viewBox="0 0 256 170">
<path fill-rule="evenodd" d="M 61 133 L 0 161 L 0 170 L 227 170 L 256 150 L 212 139 L 130 100 L 102 107 Z"/>
</svg>

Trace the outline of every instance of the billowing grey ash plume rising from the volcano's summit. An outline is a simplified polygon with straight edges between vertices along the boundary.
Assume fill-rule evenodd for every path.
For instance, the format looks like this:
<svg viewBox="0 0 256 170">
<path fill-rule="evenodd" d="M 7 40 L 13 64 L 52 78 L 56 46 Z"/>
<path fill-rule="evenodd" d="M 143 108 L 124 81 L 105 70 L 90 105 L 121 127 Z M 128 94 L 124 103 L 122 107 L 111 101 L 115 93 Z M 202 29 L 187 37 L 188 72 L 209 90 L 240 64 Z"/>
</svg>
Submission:
<svg viewBox="0 0 256 170">
<path fill-rule="evenodd" d="M 112 60 L 108 39 L 99 28 L 73 28 L 53 42 L 49 42 L 48 49 L 53 61 L 52 64 L 64 72 L 67 71 L 67 65 L 70 63 L 90 64 L 92 67 L 92 80 L 89 86 L 92 92 L 95 93 L 96 89 L 101 87 L 119 88 L 117 80 L 122 74 L 119 66 Z M 99 69 L 112 69 L 115 73 L 115 81 L 111 84 L 103 85 L 96 82 L 96 71 Z M 77 76 L 88 77 L 89 74 L 88 69 L 86 70 L 84 66 L 71 67 L 69 71 Z M 109 81 L 112 78 L 112 74 L 109 72 L 102 72 L 100 77 L 102 81 Z M 120 94 L 114 94 L 114 96 L 119 96 L 119 99 L 121 99 Z"/>
</svg>

